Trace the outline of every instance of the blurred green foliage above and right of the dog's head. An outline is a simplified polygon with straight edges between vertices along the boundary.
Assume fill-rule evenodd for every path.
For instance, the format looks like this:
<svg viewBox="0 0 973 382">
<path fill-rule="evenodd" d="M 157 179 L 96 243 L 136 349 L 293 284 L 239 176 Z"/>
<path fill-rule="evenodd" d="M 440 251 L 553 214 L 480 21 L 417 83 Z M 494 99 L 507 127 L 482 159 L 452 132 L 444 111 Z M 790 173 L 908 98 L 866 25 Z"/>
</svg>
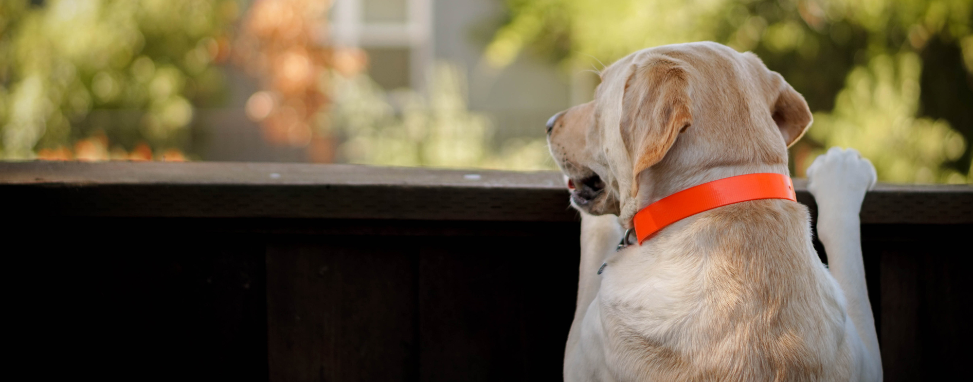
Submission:
<svg viewBox="0 0 973 382">
<path fill-rule="evenodd" d="M 830 146 L 883 181 L 965 183 L 973 150 L 973 0 L 507 0 L 486 49 L 526 48 L 568 70 L 659 45 L 712 40 L 756 52 L 803 93 L 814 124 L 802 176 Z"/>
</svg>

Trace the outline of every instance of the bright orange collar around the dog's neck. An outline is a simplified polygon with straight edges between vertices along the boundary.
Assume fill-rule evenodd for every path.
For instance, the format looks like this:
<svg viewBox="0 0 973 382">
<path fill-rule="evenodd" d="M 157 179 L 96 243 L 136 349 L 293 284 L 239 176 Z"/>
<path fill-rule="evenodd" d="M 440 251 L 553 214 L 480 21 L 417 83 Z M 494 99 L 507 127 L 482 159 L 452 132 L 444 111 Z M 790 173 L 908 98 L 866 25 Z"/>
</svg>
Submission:
<svg viewBox="0 0 973 382">
<path fill-rule="evenodd" d="M 787 175 L 759 173 L 738 175 L 678 191 L 649 204 L 635 214 L 638 244 L 660 229 L 716 207 L 757 199 L 797 201 Z"/>
</svg>

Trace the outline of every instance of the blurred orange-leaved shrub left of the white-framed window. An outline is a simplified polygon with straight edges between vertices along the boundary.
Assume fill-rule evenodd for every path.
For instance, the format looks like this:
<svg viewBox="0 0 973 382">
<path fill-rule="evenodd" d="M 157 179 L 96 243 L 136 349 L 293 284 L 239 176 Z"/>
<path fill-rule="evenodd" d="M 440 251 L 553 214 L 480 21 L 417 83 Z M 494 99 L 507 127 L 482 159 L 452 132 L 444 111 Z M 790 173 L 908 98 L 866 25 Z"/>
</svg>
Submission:
<svg viewBox="0 0 973 382">
<path fill-rule="evenodd" d="M 353 62 L 344 66 L 352 71 L 364 65 L 354 62 L 354 53 L 332 52 L 317 41 L 328 26 L 330 6 L 318 0 L 256 0 L 234 44 L 235 61 L 263 88 L 247 101 L 247 117 L 260 122 L 267 142 L 305 148 L 308 159 L 320 162 L 334 160 L 332 137 L 312 128 L 326 117 L 328 67 L 348 59 Z"/>
</svg>

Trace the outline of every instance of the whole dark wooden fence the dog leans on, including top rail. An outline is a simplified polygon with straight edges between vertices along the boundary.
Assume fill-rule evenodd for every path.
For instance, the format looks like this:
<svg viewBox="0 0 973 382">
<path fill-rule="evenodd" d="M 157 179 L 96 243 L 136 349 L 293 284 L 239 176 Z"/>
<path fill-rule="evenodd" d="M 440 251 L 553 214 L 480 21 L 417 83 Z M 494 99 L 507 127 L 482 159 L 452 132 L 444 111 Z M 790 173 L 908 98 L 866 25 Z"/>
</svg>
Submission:
<svg viewBox="0 0 973 382">
<path fill-rule="evenodd" d="M 559 380 L 579 256 L 561 182 L 0 163 L 9 363 L 126 380 Z M 861 218 L 885 380 L 966 374 L 973 188 L 880 185 Z"/>
</svg>

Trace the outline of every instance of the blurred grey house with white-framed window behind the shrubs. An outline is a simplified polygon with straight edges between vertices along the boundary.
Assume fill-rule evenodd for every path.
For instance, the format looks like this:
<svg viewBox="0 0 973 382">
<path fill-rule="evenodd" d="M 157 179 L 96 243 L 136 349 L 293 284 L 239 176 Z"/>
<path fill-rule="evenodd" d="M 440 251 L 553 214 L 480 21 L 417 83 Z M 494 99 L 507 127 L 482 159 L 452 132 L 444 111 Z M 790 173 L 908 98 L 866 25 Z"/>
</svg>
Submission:
<svg viewBox="0 0 973 382">
<path fill-rule="evenodd" d="M 322 22 L 327 27 L 321 28 L 320 42 L 366 52 L 368 75 L 387 90 L 421 92 L 432 65 L 450 62 L 467 77 L 470 111 L 492 122 L 492 145 L 543 137 L 551 115 L 590 99 L 593 75 L 576 70 L 580 74 L 568 78 L 553 62 L 529 53 L 504 68 L 491 67 L 483 52 L 504 12 L 496 0 L 336 0 Z M 246 118 L 243 108 L 259 90 L 257 82 L 234 67 L 227 76 L 227 107 L 197 113 L 201 158 L 306 161 L 302 148 L 271 145 Z"/>
</svg>

